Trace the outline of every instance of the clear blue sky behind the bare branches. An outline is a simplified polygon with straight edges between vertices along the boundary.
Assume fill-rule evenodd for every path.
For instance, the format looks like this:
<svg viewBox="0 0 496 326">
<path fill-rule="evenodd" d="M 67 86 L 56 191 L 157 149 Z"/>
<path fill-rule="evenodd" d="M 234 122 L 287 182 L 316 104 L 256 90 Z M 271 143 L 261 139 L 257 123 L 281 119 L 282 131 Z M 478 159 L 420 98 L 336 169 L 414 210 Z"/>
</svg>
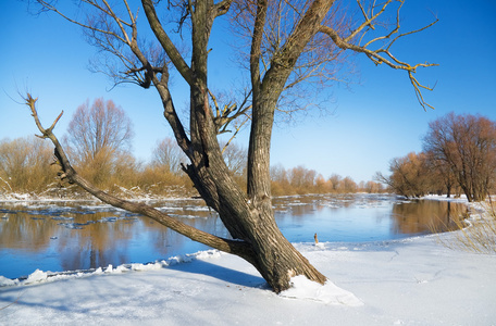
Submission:
<svg viewBox="0 0 496 326">
<path fill-rule="evenodd" d="M 148 160 L 157 141 L 171 136 L 154 90 L 134 85 L 110 90 L 112 84 L 104 75 L 87 68 L 96 51 L 86 43 L 80 28 L 54 14 L 33 16 L 26 8 L 20 1 L 0 4 L 0 139 L 37 131 L 27 108 L 15 102 L 20 101 L 17 91 L 39 97 L 39 114 L 46 125 L 64 110 L 55 128 L 59 137 L 78 105 L 103 97 L 133 120 L 134 153 Z M 377 171 L 387 174 L 393 158 L 420 151 L 429 122 L 448 112 L 482 114 L 496 121 L 496 2 L 407 0 L 401 24 L 407 29 L 421 27 L 433 14 L 439 18 L 434 27 L 405 38 L 394 50 L 410 63 L 439 64 L 417 74 L 424 84 L 436 85 L 434 91 L 424 91 L 435 110 L 423 111 L 405 72 L 354 55 L 359 73 L 349 87 L 335 85 L 325 90 L 332 98 L 326 111 L 309 112 L 292 124 L 275 126 L 272 164 L 305 165 L 325 177 L 337 173 L 357 183 L 370 180 Z M 213 49 L 219 47 L 221 52 L 228 48 L 226 42 L 225 37 L 215 36 Z M 234 83 L 231 72 L 236 64 L 214 52 L 210 83 L 228 86 Z M 220 67 L 215 67 L 216 61 Z M 176 106 L 184 108 L 186 86 L 174 78 L 172 91 Z M 246 138 L 246 133 L 240 135 L 239 143 L 247 146 Z"/>
</svg>

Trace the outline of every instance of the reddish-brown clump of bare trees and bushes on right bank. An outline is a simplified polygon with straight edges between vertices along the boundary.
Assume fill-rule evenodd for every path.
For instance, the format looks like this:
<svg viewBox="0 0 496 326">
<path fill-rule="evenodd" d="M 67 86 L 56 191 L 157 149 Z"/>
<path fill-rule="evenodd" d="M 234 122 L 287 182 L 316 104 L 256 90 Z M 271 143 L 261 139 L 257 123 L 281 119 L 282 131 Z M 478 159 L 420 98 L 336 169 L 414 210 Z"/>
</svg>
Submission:
<svg viewBox="0 0 496 326">
<path fill-rule="evenodd" d="M 482 201 L 496 192 L 496 123 L 479 115 L 439 117 L 429 124 L 423 151 L 390 161 L 376 180 L 406 197 L 466 195 Z"/>
</svg>

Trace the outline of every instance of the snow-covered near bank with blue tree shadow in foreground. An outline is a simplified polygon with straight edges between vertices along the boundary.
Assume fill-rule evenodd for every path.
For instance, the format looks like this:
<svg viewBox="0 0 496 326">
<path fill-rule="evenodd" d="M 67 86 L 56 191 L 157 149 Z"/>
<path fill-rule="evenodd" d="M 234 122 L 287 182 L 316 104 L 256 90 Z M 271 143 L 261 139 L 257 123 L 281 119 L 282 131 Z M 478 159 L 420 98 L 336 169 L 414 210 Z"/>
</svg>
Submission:
<svg viewBox="0 0 496 326">
<path fill-rule="evenodd" d="M 450 250 L 437 237 L 295 244 L 361 305 L 336 304 L 328 294 L 343 292 L 298 281 L 302 296 L 277 296 L 248 263 L 210 252 L 139 273 L 0 288 L 0 308 L 14 302 L 0 324 L 495 325 L 496 255 Z M 314 300 L 319 291 L 326 300 Z"/>
</svg>

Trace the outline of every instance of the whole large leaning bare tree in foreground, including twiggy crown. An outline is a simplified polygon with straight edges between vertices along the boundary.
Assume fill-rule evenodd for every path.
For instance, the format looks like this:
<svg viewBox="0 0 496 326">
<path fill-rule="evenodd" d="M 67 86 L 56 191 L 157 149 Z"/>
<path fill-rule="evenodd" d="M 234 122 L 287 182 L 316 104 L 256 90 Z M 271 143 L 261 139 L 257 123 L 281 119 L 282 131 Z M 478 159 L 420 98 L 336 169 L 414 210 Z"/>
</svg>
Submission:
<svg viewBox="0 0 496 326">
<path fill-rule="evenodd" d="M 177 145 L 189 160 L 183 170 L 206 203 L 219 213 L 232 239 L 195 229 L 166 213 L 121 200 L 89 184 L 71 166 L 53 135 L 57 121 L 44 128 L 37 117 L 36 99 L 28 95 L 26 102 L 41 137 L 51 139 L 55 146 L 55 155 L 63 170 L 61 176 L 104 202 L 146 215 L 195 241 L 244 258 L 276 292 L 287 289 L 290 277 L 296 275 L 321 284 L 326 280 L 285 239 L 272 210 L 270 147 L 274 114 L 277 109 L 293 110 L 295 108 L 290 106 L 295 104 L 305 106 L 301 98 L 287 97 L 292 95 L 290 90 L 303 82 L 325 84 L 336 79 L 332 73 L 338 66 L 337 60 L 355 52 L 367 55 L 375 64 L 406 72 L 421 105 L 427 105 L 421 95 L 422 88 L 426 87 L 416 79 L 414 73 L 417 68 L 432 64 L 409 64 L 392 53 L 392 46 L 399 38 L 432 25 L 401 33 L 399 10 L 404 1 L 387 0 L 376 4 L 359 0 L 356 9 L 346 9 L 334 0 L 141 0 L 139 4 L 126 0 L 113 1 L 119 4 L 110 4 L 107 0 L 82 0 L 77 2 L 79 14 L 75 15 L 62 11 L 53 1 L 36 2 L 42 10 L 53 11 L 84 28 L 90 43 L 107 54 L 99 71 L 116 83 L 132 82 L 154 88 Z M 142 12 L 146 21 L 141 15 L 138 20 L 138 13 Z M 181 51 L 182 46 L 175 41 L 181 38 L 166 30 L 170 28 L 161 18 L 168 13 L 169 17 L 175 15 L 178 27 L 175 32 L 188 36 L 188 53 Z M 250 89 L 236 103 L 220 105 L 209 89 L 209 39 L 213 24 L 226 14 L 236 24 L 233 29 L 237 34 L 232 37 L 245 40 L 244 37 L 249 37 L 244 66 L 249 67 Z M 82 16 L 85 20 L 77 18 Z M 392 17 L 393 23 L 384 25 Z M 156 46 L 141 37 L 145 25 L 151 29 Z M 379 30 L 384 34 L 379 35 Z M 110 61 L 111 58 L 114 61 Z M 171 97 L 170 70 L 178 73 L 189 86 L 187 120 L 179 116 Z M 248 179 L 247 189 L 241 189 L 222 158 L 218 136 L 247 115 L 250 117 Z M 185 121 L 189 126 L 184 125 Z"/>
</svg>

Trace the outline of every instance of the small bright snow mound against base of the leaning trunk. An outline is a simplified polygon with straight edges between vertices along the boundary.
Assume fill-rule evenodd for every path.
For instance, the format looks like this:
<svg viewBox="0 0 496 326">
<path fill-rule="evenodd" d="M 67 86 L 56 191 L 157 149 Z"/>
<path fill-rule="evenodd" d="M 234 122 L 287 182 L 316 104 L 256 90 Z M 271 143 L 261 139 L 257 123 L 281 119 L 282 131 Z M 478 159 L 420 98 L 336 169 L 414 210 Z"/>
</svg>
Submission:
<svg viewBox="0 0 496 326">
<path fill-rule="evenodd" d="M 308 279 L 303 275 L 292 278 L 292 287 L 280 293 L 281 297 L 320 301 L 325 304 L 360 306 L 363 302 L 334 283 L 327 280 L 324 285 Z"/>
</svg>

